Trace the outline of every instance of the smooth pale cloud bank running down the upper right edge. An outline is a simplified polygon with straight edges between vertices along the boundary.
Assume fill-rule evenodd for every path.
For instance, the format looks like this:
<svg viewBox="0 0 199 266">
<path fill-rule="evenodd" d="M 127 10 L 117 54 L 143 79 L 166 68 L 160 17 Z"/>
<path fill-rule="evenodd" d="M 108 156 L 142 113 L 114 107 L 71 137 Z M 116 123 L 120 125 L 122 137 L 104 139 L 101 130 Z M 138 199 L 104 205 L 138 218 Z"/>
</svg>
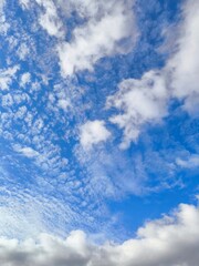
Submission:
<svg viewBox="0 0 199 266">
<path fill-rule="evenodd" d="M 185 109 L 192 113 L 199 106 L 199 2 L 187 1 L 185 21 L 177 40 L 177 52 L 167 68 L 171 72 L 172 95 L 185 99 Z"/>
</svg>

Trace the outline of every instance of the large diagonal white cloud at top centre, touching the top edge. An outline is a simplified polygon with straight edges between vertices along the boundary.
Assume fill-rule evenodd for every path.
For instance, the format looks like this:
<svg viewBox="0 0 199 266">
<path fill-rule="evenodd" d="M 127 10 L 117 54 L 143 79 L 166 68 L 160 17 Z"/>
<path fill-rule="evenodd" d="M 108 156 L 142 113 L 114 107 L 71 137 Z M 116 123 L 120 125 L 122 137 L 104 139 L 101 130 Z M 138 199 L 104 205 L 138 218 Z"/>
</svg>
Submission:
<svg viewBox="0 0 199 266">
<path fill-rule="evenodd" d="M 132 6 L 125 0 L 69 1 L 69 9 L 77 11 L 86 22 L 74 29 L 71 41 L 59 44 L 63 75 L 92 71 L 101 58 L 128 51 L 136 35 Z"/>
</svg>

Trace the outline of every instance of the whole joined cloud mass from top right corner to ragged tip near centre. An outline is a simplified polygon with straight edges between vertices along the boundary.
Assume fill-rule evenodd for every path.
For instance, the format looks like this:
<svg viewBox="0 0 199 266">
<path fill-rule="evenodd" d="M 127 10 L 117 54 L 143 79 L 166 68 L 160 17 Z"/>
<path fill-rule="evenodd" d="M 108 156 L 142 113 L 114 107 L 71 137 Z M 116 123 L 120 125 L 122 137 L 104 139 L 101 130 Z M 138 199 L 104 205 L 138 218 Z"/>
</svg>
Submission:
<svg viewBox="0 0 199 266">
<path fill-rule="evenodd" d="M 124 80 L 118 91 L 107 99 L 107 108 L 119 113 L 109 119 L 124 131 L 122 149 L 135 142 L 147 123 L 161 121 L 171 99 L 184 102 L 182 109 L 197 115 L 199 106 L 199 2 L 187 1 L 179 27 L 175 53 L 166 66 L 151 70 L 140 79 Z"/>
</svg>

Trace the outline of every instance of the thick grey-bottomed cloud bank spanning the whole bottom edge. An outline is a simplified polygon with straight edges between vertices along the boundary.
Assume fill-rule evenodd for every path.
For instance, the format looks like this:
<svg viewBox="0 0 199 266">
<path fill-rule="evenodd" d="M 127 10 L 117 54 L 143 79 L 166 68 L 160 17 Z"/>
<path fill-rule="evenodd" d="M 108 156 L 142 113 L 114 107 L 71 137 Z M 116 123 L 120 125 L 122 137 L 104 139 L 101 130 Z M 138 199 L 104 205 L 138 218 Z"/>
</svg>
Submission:
<svg viewBox="0 0 199 266">
<path fill-rule="evenodd" d="M 81 231 L 65 241 L 52 235 L 18 242 L 0 238 L 2 266 L 196 266 L 199 262 L 199 209 L 181 204 L 171 216 L 147 223 L 123 244 L 95 245 Z"/>
</svg>

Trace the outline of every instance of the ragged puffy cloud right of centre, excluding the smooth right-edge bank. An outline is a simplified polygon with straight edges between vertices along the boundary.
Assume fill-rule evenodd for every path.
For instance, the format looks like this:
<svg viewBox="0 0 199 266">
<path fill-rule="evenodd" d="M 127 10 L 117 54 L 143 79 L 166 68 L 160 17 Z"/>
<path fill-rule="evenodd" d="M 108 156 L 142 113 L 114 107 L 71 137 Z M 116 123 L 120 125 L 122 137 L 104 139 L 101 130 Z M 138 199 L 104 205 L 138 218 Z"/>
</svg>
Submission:
<svg viewBox="0 0 199 266">
<path fill-rule="evenodd" d="M 124 130 L 122 149 L 136 141 L 142 126 L 147 122 L 159 122 L 167 115 L 168 92 L 163 73 L 147 72 L 140 80 L 124 80 L 119 91 L 107 99 L 107 108 L 122 111 L 109 119 Z"/>
</svg>

